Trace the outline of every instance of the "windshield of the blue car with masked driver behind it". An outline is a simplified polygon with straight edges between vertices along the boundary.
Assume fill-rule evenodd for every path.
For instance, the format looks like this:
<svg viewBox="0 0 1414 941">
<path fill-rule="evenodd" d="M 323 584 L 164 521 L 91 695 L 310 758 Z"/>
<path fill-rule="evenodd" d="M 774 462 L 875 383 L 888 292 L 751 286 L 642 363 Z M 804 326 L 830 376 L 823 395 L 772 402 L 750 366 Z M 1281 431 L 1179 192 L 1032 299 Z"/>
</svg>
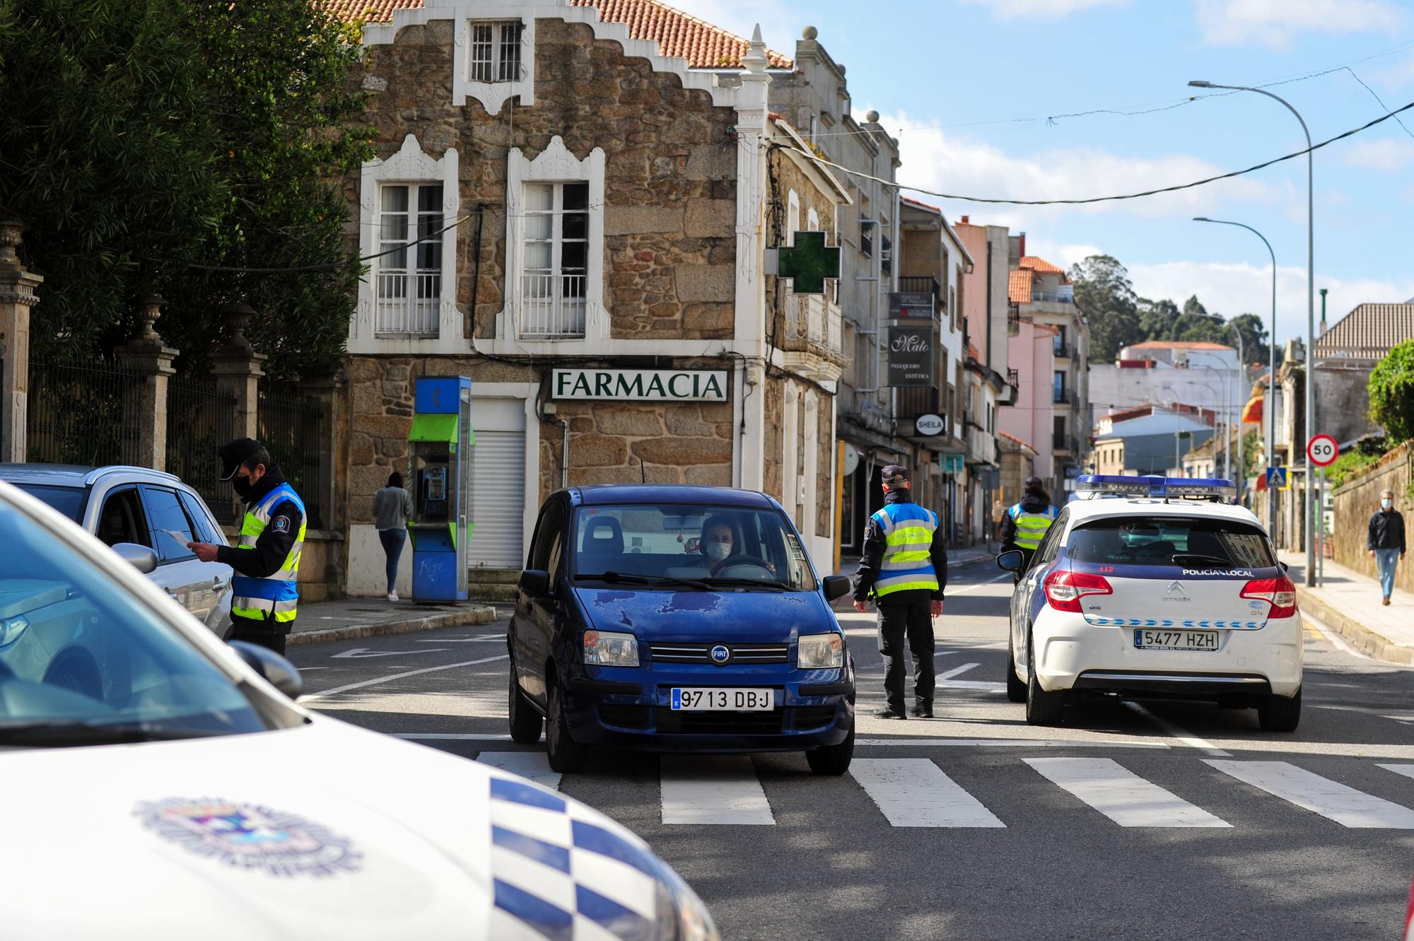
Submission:
<svg viewBox="0 0 1414 941">
<path fill-rule="evenodd" d="M 775 509 L 581 506 L 574 521 L 578 581 L 697 582 L 699 588 L 814 591 L 805 548 Z M 693 585 L 687 585 L 691 588 Z"/>
</svg>

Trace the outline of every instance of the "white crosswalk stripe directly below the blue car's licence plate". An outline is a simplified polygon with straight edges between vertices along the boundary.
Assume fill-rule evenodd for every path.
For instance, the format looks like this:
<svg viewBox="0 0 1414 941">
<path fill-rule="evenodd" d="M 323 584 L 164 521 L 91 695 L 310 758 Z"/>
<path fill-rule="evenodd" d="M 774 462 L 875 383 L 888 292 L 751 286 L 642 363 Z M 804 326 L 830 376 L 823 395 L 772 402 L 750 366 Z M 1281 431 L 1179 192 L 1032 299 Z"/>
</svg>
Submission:
<svg viewBox="0 0 1414 941">
<path fill-rule="evenodd" d="M 749 756 L 665 754 L 659 777 L 665 824 L 776 822 Z"/>
</svg>

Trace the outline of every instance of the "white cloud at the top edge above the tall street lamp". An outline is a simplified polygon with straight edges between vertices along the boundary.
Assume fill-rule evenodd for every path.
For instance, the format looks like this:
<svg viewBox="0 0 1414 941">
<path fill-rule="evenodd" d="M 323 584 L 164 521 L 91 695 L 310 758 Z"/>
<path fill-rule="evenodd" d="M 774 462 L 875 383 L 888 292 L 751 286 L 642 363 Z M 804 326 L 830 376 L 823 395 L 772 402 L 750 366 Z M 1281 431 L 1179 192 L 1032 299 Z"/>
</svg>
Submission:
<svg viewBox="0 0 1414 941">
<path fill-rule="evenodd" d="M 1387 0 L 1195 0 L 1203 38 L 1220 45 L 1285 47 L 1301 32 L 1397 30 L 1406 13 Z"/>
</svg>

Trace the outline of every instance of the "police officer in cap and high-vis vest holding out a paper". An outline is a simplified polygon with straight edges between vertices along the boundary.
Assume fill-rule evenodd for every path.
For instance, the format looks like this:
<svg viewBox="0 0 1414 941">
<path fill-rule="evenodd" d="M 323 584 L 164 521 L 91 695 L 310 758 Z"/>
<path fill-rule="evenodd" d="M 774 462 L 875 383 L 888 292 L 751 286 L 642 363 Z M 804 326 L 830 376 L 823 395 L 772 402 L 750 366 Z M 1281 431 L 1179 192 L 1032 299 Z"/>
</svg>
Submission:
<svg viewBox="0 0 1414 941">
<path fill-rule="evenodd" d="M 192 543 L 204 562 L 225 562 L 230 579 L 230 639 L 247 640 L 283 654 L 300 602 L 300 550 L 304 547 L 304 502 L 253 438 L 238 438 L 216 452 L 223 476 L 246 502 L 238 545 Z"/>
</svg>

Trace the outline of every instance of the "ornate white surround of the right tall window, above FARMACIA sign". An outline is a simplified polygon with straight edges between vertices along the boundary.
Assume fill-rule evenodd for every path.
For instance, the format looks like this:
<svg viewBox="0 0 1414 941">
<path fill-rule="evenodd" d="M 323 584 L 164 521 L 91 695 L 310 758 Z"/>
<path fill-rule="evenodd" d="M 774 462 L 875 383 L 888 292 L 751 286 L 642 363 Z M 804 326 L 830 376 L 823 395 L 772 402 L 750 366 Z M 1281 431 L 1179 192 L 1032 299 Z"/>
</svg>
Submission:
<svg viewBox="0 0 1414 941">
<path fill-rule="evenodd" d="M 526 336 L 525 284 L 525 184 L 587 182 L 588 247 L 584 273 L 584 336 Z M 544 343 L 583 345 L 585 339 L 608 339 L 609 318 L 604 305 L 604 150 L 595 147 L 584 160 L 571 154 L 559 136 L 534 160 L 515 147 L 506 157 L 506 304 L 496 316 L 496 339 L 516 348 Z M 499 352 L 499 350 L 498 350 Z"/>
</svg>

